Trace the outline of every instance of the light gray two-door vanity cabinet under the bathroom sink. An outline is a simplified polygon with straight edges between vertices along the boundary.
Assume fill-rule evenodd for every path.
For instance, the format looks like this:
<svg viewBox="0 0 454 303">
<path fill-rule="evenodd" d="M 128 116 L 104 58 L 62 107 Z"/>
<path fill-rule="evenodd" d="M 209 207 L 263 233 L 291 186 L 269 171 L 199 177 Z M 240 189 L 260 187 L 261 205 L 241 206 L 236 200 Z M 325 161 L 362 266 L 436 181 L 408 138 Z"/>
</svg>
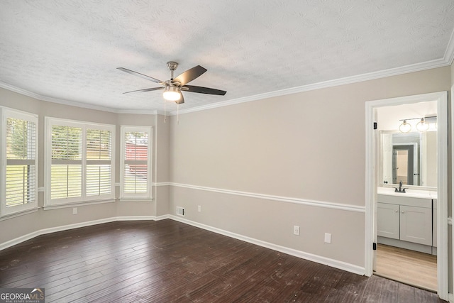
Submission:
<svg viewBox="0 0 454 303">
<path fill-rule="evenodd" d="M 377 218 L 378 243 L 432 253 L 432 199 L 379 194 Z"/>
</svg>

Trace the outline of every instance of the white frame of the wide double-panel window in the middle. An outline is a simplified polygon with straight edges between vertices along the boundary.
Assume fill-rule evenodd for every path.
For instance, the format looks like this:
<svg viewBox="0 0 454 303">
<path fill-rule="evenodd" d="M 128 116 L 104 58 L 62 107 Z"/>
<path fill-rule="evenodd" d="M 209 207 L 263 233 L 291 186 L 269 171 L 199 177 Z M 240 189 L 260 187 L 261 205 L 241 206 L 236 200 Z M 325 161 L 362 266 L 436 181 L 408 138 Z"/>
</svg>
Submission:
<svg viewBox="0 0 454 303">
<path fill-rule="evenodd" d="M 51 199 L 51 169 L 52 169 L 52 126 L 68 126 L 82 128 L 82 184 L 80 197 L 66 197 L 59 199 Z M 87 195 L 87 165 L 90 165 L 91 160 L 87 160 L 87 129 L 95 129 L 101 131 L 111 131 L 111 178 L 110 178 L 110 193 L 102 195 Z M 70 119 L 60 119 L 54 117 L 45 117 L 45 145 L 44 145 L 44 180 L 45 180 L 45 206 L 61 206 L 66 204 L 89 204 L 89 202 L 111 202 L 115 199 L 115 150 L 116 150 L 116 126 L 104 123 L 94 123 L 86 121 L 76 121 Z M 73 160 L 70 160 L 73 161 Z M 77 161 L 77 160 L 74 160 Z"/>
</svg>

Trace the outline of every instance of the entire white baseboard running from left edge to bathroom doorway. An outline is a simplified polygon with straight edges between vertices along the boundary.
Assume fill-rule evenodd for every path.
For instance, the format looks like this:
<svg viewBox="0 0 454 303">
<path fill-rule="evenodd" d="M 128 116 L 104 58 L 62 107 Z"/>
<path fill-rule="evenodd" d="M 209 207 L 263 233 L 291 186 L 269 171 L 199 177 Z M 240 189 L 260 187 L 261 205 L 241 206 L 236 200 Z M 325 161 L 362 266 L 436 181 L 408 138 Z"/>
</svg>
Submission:
<svg viewBox="0 0 454 303">
<path fill-rule="evenodd" d="M 223 236 L 228 236 L 231 238 L 236 238 L 241 241 L 245 241 L 248 243 L 252 243 L 258 246 L 262 246 L 265 248 L 270 248 L 272 250 L 280 251 L 281 253 L 287 253 L 288 255 L 294 255 L 295 257 L 302 258 L 305 260 L 310 260 L 316 263 L 320 263 L 323 265 L 328 265 L 331 266 L 332 268 L 338 268 L 340 270 L 346 270 L 348 272 L 353 272 L 358 275 L 365 275 L 365 268 L 362 268 L 358 265 L 353 265 L 350 263 L 345 263 L 339 260 L 333 260 L 330 258 L 325 258 L 320 255 L 314 255 L 312 253 L 305 253 L 304 251 L 301 250 L 295 250 L 293 248 L 287 248 L 284 246 L 279 246 L 273 243 L 269 243 L 266 241 L 261 241 L 255 238 L 250 238 L 248 236 L 243 236 L 238 233 L 231 233 L 230 231 L 224 231 L 223 229 L 220 228 L 215 228 L 212 226 L 208 226 L 205 224 L 200 224 L 194 221 L 190 221 L 187 219 L 183 219 L 179 216 L 173 216 L 173 215 L 164 215 L 164 216 L 115 216 L 111 218 L 106 218 L 106 219 L 99 219 L 99 220 L 94 220 L 94 221 L 87 221 L 87 222 L 81 222 L 77 224 L 69 224 L 69 225 L 64 225 L 64 226 L 57 226 L 57 227 L 52 227 L 52 228 L 44 228 L 40 229 L 39 231 L 34 231 L 33 233 L 28 233 L 27 235 L 15 238 L 10 241 L 6 241 L 4 243 L 0 243 L 0 250 L 3 250 L 5 248 L 9 248 L 11 246 L 14 246 L 16 244 L 22 243 L 24 241 L 28 241 L 31 238 L 35 238 L 40 235 L 44 235 L 46 233 L 55 233 L 57 231 L 67 231 L 69 229 L 73 228 L 80 228 L 80 227 L 86 227 L 86 226 L 92 226 L 96 224 L 103 224 L 103 223 L 109 223 L 109 222 L 114 222 L 114 221 L 160 221 L 164 219 L 172 219 L 174 221 L 179 221 L 184 224 L 189 224 L 192 226 L 196 226 L 199 228 L 203 228 L 207 231 L 213 231 L 214 233 L 219 233 Z"/>
</svg>

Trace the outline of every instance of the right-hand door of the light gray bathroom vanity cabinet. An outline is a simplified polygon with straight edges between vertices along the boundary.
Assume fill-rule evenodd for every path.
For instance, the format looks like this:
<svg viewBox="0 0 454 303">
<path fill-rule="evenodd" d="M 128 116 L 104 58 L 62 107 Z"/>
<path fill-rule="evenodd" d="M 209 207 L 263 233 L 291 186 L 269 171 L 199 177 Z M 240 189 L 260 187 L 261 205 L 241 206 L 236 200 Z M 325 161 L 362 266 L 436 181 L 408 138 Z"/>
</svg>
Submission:
<svg viewBox="0 0 454 303">
<path fill-rule="evenodd" d="M 400 239 L 432 246 L 432 209 L 401 205 Z"/>
</svg>

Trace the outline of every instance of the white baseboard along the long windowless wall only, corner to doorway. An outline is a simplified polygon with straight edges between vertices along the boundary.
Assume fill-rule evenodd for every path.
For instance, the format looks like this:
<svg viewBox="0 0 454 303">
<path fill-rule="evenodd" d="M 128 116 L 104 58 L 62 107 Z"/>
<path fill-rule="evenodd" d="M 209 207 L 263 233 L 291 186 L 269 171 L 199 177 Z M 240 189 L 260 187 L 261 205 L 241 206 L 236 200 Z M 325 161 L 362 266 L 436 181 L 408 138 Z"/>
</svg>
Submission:
<svg viewBox="0 0 454 303">
<path fill-rule="evenodd" d="M 223 229 L 220 229 L 220 228 L 215 228 L 215 227 L 208 226 L 208 225 L 205 225 L 205 224 L 200 224 L 198 222 L 194 222 L 194 221 L 190 221 L 190 220 L 187 220 L 187 219 L 183 219 L 182 217 L 179 217 L 179 216 L 170 215 L 169 218 L 172 219 L 172 220 L 175 220 L 175 221 L 182 222 L 184 224 L 189 224 L 189 225 L 192 225 L 192 226 L 196 226 L 196 227 L 199 227 L 199 228 L 206 229 L 207 231 L 213 231 L 214 233 L 220 233 L 223 236 L 236 238 L 236 239 L 241 240 L 241 241 L 252 243 L 252 244 L 255 244 L 255 245 L 258 245 L 258 246 L 262 246 L 262 247 L 265 247 L 265 248 L 270 248 L 272 250 L 280 251 L 281 253 L 287 253 L 287 255 L 294 255 L 295 257 L 298 257 L 298 258 L 301 258 L 301 259 L 305 259 L 305 260 L 309 260 L 309 261 L 313 261 L 313 262 L 316 262 L 316 263 L 319 263 L 319 264 L 323 264 L 323 265 L 328 265 L 328 266 L 331 266 L 332 268 L 338 268 L 340 270 L 353 272 L 353 273 L 358 274 L 358 275 L 365 275 L 365 268 L 360 267 L 358 265 L 345 263 L 345 262 L 342 262 L 342 261 L 339 261 L 339 260 L 333 260 L 333 259 L 330 259 L 330 258 L 322 257 L 321 255 L 314 255 L 312 253 L 305 253 L 304 251 L 301 251 L 301 250 L 296 250 L 296 249 L 293 249 L 293 248 L 287 248 L 287 247 L 284 247 L 284 246 L 279 246 L 279 245 L 276 245 L 276 244 L 273 244 L 273 243 L 269 243 L 269 242 L 266 242 L 266 241 L 261 241 L 261 240 L 255 239 L 255 238 L 250 238 L 248 236 L 243 236 L 243 235 L 240 235 L 238 233 L 231 233 L 230 231 L 224 231 Z"/>
</svg>

